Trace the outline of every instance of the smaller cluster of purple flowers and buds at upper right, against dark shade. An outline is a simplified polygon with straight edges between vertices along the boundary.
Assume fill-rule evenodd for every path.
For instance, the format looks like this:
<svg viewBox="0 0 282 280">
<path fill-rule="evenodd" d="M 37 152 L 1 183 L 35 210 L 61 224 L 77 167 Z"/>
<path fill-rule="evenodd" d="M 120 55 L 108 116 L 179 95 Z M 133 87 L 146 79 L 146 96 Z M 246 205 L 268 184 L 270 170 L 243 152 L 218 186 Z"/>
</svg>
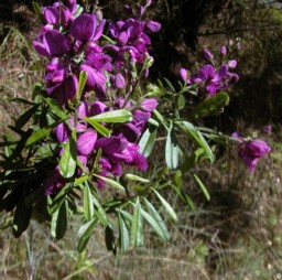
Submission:
<svg viewBox="0 0 282 280">
<path fill-rule="evenodd" d="M 195 75 L 188 76 L 188 71 L 186 68 L 181 68 L 180 74 L 187 85 L 195 85 L 198 88 L 203 88 L 205 97 L 210 97 L 225 90 L 230 84 L 239 79 L 239 76 L 236 73 L 230 72 L 230 69 L 237 66 L 237 61 L 224 60 L 227 55 L 225 45 L 220 49 L 223 63 L 219 67 L 216 67 L 214 55 L 207 49 L 203 51 L 203 55 L 208 64 L 202 66 Z"/>
</svg>

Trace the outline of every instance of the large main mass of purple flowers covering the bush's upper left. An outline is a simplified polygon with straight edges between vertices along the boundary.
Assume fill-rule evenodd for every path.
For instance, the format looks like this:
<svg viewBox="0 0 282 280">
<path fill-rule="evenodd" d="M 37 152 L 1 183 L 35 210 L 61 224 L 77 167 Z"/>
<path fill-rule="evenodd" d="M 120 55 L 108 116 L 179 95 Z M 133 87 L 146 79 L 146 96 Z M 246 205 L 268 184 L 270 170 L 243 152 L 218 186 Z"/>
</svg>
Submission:
<svg viewBox="0 0 282 280">
<path fill-rule="evenodd" d="M 99 175 L 120 176 L 122 165 L 128 164 L 147 170 L 147 159 L 137 144 L 151 112 L 158 101 L 153 98 L 134 98 L 139 79 L 145 77 L 152 64 L 149 55 L 151 40 L 147 32 L 156 32 L 161 25 L 154 21 L 142 21 L 148 1 L 137 19 L 109 22 L 100 12 L 80 13 L 76 0 L 55 2 L 42 9 L 44 26 L 33 46 L 40 55 L 48 58 L 45 73 L 46 94 L 55 98 L 70 112 L 67 121 L 54 130 L 54 139 L 64 147 L 73 131 L 76 133 L 76 173 L 91 172 L 94 161 Z M 79 75 L 87 78 L 78 96 Z M 128 110 L 132 118 L 122 123 L 100 125 L 110 131 L 99 133 L 85 119 L 104 112 Z M 115 121 L 111 121 L 115 122 Z M 97 154 L 99 151 L 99 158 Z M 96 180 L 104 186 L 102 180 Z M 64 176 L 56 166 L 45 183 L 45 193 L 53 194 L 65 185 Z"/>
</svg>

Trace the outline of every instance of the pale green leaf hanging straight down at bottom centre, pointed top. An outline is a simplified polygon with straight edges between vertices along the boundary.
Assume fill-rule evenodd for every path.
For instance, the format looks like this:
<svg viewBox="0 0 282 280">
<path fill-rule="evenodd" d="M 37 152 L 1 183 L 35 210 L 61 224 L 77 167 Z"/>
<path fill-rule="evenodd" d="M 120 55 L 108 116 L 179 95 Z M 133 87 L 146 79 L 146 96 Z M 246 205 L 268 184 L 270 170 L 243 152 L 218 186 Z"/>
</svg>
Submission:
<svg viewBox="0 0 282 280">
<path fill-rule="evenodd" d="M 141 205 L 139 198 L 134 204 L 134 212 L 132 217 L 132 224 L 130 229 L 130 239 L 132 246 L 141 246 L 143 244 L 143 226 L 141 216 Z"/>
</svg>

